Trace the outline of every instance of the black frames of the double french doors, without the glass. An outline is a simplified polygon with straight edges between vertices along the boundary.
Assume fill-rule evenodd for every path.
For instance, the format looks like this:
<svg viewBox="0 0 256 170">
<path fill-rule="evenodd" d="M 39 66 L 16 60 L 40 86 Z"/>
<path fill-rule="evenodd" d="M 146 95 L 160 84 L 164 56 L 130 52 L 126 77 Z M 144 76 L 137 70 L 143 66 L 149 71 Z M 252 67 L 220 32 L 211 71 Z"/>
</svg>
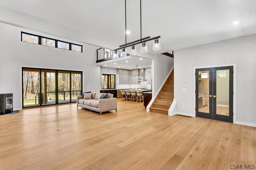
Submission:
<svg viewBox="0 0 256 170">
<path fill-rule="evenodd" d="M 229 115 L 216 114 L 216 70 L 230 70 L 229 71 Z M 209 71 L 209 113 L 199 112 L 198 110 L 198 72 Z M 233 123 L 234 116 L 234 66 L 220 66 L 220 67 L 209 67 L 209 68 L 197 68 L 196 69 L 196 117 L 203 117 L 207 119 L 214 119 L 219 121 L 226 121 Z"/>
</svg>

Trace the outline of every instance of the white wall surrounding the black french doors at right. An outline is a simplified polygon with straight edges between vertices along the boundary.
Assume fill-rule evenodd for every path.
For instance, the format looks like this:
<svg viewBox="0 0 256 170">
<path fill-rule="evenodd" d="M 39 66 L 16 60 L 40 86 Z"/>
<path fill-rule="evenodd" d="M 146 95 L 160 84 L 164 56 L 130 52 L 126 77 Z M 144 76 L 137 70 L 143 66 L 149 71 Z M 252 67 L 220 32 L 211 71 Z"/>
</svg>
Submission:
<svg viewBox="0 0 256 170">
<path fill-rule="evenodd" d="M 222 64 L 236 64 L 236 121 L 256 125 L 256 34 L 174 51 L 177 111 L 193 115 L 193 68 Z"/>
</svg>

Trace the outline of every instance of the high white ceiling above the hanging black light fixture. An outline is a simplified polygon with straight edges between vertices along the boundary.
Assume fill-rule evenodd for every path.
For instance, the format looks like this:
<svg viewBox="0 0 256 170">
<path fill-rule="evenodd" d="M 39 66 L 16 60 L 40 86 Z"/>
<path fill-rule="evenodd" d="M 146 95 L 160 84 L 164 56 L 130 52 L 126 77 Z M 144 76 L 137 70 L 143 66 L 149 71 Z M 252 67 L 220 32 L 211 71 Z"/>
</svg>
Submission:
<svg viewBox="0 0 256 170">
<path fill-rule="evenodd" d="M 140 38 L 140 0 L 127 0 L 127 41 Z M 0 0 L 0 6 L 125 43 L 124 0 Z M 234 21 L 239 24 L 233 25 Z M 164 53 L 256 33 L 255 0 L 142 0 L 142 37 Z M 84 40 L 86 42 L 86 40 Z"/>
</svg>

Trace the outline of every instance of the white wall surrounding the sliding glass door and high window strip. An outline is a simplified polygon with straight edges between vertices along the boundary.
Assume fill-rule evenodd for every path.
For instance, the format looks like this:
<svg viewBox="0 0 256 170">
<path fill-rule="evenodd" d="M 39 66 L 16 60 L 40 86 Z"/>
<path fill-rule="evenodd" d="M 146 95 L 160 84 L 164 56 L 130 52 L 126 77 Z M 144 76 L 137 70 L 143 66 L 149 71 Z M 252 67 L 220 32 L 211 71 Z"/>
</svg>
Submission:
<svg viewBox="0 0 256 170">
<path fill-rule="evenodd" d="M 22 42 L 21 31 L 83 45 L 84 53 Z M 22 108 L 21 66 L 83 71 L 83 90 L 99 92 L 100 66 L 96 66 L 97 48 L 0 23 L 0 93 L 13 92 L 14 109 Z"/>
</svg>

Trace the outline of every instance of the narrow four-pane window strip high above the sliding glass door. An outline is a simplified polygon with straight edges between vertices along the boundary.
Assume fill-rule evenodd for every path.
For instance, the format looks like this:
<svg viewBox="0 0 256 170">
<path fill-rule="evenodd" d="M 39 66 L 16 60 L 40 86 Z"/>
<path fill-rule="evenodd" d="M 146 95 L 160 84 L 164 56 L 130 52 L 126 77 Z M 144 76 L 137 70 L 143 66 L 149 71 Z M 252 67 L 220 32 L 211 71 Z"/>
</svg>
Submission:
<svg viewBox="0 0 256 170">
<path fill-rule="evenodd" d="M 82 45 L 68 43 L 65 41 L 42 37 L 40 35 L 34 35 L 34 34 L 30 34 L 30 33 L 21 32 L 21 41 L 33 43 L 33 44 L 44 45 L 44 46 L 48 46 L 48 47 L 55 47 L 58 49 L 66 49 L 66 50 L 70 50 L 70 51 L 76 51 L 76 52 L 80 52 L 80 53 L 83 52 Z"/>
</svg>

